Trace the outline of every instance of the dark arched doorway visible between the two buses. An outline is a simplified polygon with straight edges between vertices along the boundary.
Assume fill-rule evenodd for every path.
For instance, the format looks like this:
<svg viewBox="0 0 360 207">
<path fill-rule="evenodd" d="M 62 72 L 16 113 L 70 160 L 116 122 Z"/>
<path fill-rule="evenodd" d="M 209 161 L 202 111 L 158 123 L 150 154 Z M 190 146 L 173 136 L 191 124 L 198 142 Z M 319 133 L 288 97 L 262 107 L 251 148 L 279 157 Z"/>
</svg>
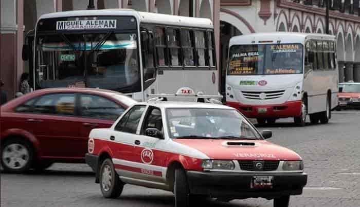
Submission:
<svg viewBox="0 0 360 207">
<path fill-rule="evenodd" d="M 229 50 L 229 41 L 232 36 L 242 35 L 242 32 L 235 26 L 225 21 L 220 21 L 220 60 L 219 60 L 219 77 L 220 77 L 220 92 L 225 93 L 225 78 L 227 55 Z"/>
</svg>

